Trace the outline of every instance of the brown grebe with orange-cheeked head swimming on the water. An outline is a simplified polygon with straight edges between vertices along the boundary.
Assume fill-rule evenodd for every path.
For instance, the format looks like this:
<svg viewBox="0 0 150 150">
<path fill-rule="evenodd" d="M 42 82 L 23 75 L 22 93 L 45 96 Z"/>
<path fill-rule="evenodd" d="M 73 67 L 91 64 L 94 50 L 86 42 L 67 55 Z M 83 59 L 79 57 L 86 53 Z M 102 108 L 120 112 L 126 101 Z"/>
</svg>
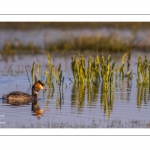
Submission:
<svg viewBox="0 0 150 150">
<path fill-rule="evenodd" d="M 20 91 L 14 91 L 3 95 L 2 99 L 4 103 L 9 103 L 11 105 L 26 105 L 32 102 L 32 111 L 35 111 L 36 109 L 39 109 L 38 92 L 41 89 L 46 89 L 46 87 L 38 80 L 32 86 L 32 95 Z"/>
</svg>

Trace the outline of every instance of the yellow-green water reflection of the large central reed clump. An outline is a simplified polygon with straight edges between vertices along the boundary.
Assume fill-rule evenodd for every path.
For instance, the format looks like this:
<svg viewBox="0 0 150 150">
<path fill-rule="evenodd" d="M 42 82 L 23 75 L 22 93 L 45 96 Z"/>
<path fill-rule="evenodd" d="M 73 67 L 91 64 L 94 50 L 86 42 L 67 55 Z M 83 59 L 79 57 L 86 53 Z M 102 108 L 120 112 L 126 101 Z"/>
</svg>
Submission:
<svg viewBox="0 0 150 150">
<path fill-rule="evenodd" d="M 74 82 L 72 87 L 72 94 L 71 94 L 71 106 L 78 108 L 78 112 L 82 112 L 82 108 L 85 106 L 85 97 L 87 97 L 87 105 L 88 107 L 95 106 L 98 102 L 99 94 L 101 108 L 106 113 L 106 116 L 109 118 L 111 111 L 113 110 L 113 103 L 114 103 L 114 84 L 107 85 L 106 90 L 106 83 L 101 84 L 101 93 L 99 93 L 100 84 L 88 83 L 88 84 L 78 84 Z M 86 91 L 86 92 L 85 92 Z"/>
</svg>

